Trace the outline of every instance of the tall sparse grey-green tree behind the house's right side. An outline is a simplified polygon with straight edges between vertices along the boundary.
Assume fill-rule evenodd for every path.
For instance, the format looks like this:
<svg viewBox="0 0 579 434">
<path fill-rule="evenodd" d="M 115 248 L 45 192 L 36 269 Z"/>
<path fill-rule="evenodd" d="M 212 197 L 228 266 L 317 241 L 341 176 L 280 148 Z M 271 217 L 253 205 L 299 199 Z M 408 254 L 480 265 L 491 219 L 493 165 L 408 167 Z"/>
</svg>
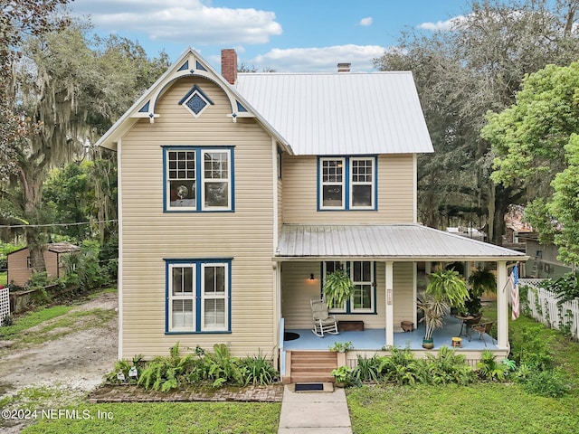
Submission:
<svg viewBox="0 0 579 434">
<path fill-rule="evenodd" d="M 507 108 L 527 73 L 568 64 L 579 48 L 577 1 L 472 0 L 451 31 L 403 33 L 375 60 L 382 71 L 413 71 L 436 150 L 419 158 L 422 221 L 441 227 L 479 220 L 501 243 L 504 214 L 526 191 L 490 180 L 493 155 L 479 136 L 487 111 Z"/>
</svg>

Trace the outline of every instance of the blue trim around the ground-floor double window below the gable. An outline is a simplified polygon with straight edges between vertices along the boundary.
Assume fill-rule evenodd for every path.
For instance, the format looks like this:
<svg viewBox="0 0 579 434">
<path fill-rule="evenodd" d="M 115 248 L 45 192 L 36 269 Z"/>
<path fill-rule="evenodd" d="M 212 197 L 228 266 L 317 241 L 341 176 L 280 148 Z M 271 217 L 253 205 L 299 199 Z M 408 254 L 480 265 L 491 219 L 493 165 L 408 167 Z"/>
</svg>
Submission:
<svg viewBox="0 0 579 434">
<path fill-rule="evenodd" d="M 232 261 L 233 258 L 178 258 L 165 261 L 165 335 L 223 335 L 232 333 Z M 169 330 L 169 278 L 170 266 L 176 264 L 195 264 L 195 330 L 176 332 Z M 225 264 L 227 272 L 227 330 L 201 330 L 201 270 L 202 264 Z"/>
</svg>

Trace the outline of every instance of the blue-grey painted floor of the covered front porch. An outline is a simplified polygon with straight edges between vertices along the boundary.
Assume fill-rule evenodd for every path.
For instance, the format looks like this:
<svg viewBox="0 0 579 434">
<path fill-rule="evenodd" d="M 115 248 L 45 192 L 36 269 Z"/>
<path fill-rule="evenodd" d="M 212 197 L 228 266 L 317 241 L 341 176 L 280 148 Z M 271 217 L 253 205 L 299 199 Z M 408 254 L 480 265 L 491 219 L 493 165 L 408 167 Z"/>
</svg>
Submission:
<svg viewBox="0 0 579 434">
<path fill-rule="evenodd" d="M 460 322 L 454 316 L 445 318 L 444 327 L 441 330 L 435 330 L 432 334 L 434 339 L 434 349 L 441 346 L 451 347 L 451 338 L 458 336 L 460 333 Z M 284 341 L 284 350 L 327 350 L 335 342 L 351 341 L 355 350 L 381 350 L 386 343 L 384 328 L 370 328 L 363 332 L 340 332 L 339 335 L 325 335 L 318 337 L 310 329 L 286 329 L 286 332 L 293 332 L 299 335 L 298 339 Z M 464 335 L 462 331 L 462 348 L 461 350 L 489 350 L 498 349 L 497 341 L 489 335 L 482 335 L 479 339 L 479 333 L 470 330 L 471 339 Z M 394 346 L 398 348 L 409 347 L 411 350 L 422 350 L 422 338 L 424 337 L 424 325 L 419 324 L 413 332 L 394 333 Z"/>
</svg>

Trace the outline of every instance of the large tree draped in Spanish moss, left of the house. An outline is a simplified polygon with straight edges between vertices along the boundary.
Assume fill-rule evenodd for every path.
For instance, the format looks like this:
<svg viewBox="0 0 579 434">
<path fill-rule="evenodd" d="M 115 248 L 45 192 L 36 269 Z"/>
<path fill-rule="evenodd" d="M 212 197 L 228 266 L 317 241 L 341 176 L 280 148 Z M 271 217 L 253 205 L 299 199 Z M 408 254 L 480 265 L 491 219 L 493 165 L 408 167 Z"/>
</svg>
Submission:
<svg viewBox="0 0 579 434">
<path fill-rule="evenodd" d="M 166 54 L 149 61 L 134 42 L 116 36 L 89 40 L 86 30 L 75 23 L 27 38 L 13 69 L 17 98 L 12 110 L 24 118 L 28 134 L 8 143 L 14 171 L 2 197 L 15 217 L 29 224 L 24 235 L 36 271 L 43 270 L 48 240 L 40 225 L 52 222 L 42 206 L 48 171 L 90 156 L 90 144 L 168 64 Z"/>
</svg>

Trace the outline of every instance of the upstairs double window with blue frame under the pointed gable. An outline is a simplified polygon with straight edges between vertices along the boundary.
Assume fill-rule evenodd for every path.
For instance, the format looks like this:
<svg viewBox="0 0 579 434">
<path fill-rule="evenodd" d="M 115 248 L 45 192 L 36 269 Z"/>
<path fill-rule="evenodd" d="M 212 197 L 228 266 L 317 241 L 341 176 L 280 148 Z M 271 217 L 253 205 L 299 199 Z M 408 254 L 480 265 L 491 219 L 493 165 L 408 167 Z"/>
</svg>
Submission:
<svg viewBox="0 0 579 434">
<path fill-rule="evenodd" d="M 166 211 L 233 211 L 233 148 L 167 147 Z"/>
</svg>

